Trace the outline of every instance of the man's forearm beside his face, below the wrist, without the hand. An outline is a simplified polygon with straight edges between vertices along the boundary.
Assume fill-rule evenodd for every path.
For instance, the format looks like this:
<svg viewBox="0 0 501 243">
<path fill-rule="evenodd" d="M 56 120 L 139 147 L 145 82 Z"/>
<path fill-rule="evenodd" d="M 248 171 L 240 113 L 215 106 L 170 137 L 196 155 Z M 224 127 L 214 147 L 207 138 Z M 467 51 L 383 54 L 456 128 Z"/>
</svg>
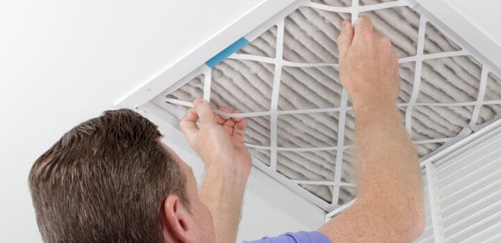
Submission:
<svg viewBox="0 0 501 243">
<path fill-rule="evenodd" d="M 217 242 L 235 242 L 248 174 L 212 163 L 205 169 L 200 199 L 212 214 Z"/>
</svg>

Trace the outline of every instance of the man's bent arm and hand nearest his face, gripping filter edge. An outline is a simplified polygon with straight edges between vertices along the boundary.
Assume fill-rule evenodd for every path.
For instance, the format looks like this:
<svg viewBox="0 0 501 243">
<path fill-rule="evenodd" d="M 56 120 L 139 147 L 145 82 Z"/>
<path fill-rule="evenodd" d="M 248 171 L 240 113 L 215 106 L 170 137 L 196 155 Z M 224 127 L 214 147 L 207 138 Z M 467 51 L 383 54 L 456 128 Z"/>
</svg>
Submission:
<svg viewBox="0 0 501 243">
<path fill-rule="evenodd" d="M 193 105 L 180 128 L 205 163 L 200 199 L 212 214 L 216 242 L 234 243 L 251 166 L 250 153 L 244 145 L 247 121 L 214 115 L 209 103 L 202 99 L 195 99 Z M 196 126 L 199 118 L 200 128 Z"/>
</svg>

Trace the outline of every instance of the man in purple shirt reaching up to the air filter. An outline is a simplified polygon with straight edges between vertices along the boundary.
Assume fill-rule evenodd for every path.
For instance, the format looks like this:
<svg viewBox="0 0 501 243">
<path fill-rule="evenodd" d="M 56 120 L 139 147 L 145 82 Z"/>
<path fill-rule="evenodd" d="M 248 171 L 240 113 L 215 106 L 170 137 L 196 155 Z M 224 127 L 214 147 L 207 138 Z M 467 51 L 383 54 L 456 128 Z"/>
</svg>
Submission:
<svg viewBox="0 0 501 243">
<path fill-rule="evenodd" d="M 420 168 L 395 105 L 397 55 L 368 17 L 354 28 L 343 22 L 338 46 L 356 111 L 358 199 L 315 232 L 257 242 L 412 242 L 422 233 Z M 107 111 L 63 135 L 31 169 L 43 240 L 235 242 L 251 167 L 247 121 L 214 115 L 202 99 L 193 104 L 180 128 L 205 162 L 200 194 L 154 124 L 130 110 Z"/>
</svg>

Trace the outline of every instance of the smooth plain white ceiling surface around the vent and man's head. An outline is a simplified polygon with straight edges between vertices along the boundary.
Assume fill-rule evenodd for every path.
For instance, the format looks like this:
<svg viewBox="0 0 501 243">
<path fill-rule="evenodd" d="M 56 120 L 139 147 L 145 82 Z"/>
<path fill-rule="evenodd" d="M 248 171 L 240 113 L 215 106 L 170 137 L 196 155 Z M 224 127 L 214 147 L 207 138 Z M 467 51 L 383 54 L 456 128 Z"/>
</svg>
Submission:
<svg viewBox="0 0 501 243">
<path fill-rule="evenodd" d="M 0 241 L 40 242 L 26 176 L 58 137 L 260 1 L 0 1 Z M 497 8 L 479 7 L 496 3 L 450 1 L 500 43 Z M 240 237 L 318 224 L 271 183 L 253 172 Z"/>
</svg>

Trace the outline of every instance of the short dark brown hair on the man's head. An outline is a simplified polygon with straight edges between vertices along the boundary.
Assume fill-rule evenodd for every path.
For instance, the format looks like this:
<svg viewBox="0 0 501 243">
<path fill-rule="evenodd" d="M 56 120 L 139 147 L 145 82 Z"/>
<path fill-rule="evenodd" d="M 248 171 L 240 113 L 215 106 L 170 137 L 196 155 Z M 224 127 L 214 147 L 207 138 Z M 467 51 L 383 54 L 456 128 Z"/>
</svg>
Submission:
<svg viewBox="0 0 501 243">
<path fill-rule="evenodd" d="M 138 113 L 108 110 L 35 161 L 29 186 L 44 242 L 163 242 L 161 209 L 186 177 Z"/>
</svg>

